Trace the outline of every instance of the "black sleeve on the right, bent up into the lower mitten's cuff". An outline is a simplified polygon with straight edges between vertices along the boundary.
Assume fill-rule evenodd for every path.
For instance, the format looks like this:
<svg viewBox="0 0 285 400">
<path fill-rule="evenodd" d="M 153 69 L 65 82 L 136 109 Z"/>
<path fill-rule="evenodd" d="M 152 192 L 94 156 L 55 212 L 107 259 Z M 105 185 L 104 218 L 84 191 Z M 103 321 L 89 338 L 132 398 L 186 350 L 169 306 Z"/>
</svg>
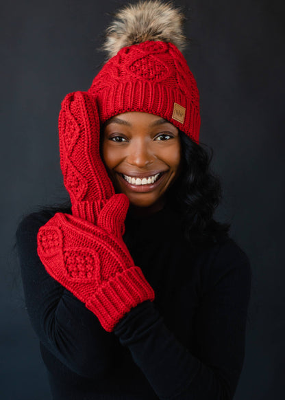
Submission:
<svg viewBox="0 0 285 400">
<path fill-rule="evenodd" d="M 132 309 L 115 326 L 114 333 L 129 348 L 159 399 L 234 397 L 245 353 L 251 291 L 249 260 L 230 241 L 221 246 L 207 276 L 208 289 L 203 294 L 195 326 L 199 357 L 175 338 L 149 301 Z"/>
</svg>

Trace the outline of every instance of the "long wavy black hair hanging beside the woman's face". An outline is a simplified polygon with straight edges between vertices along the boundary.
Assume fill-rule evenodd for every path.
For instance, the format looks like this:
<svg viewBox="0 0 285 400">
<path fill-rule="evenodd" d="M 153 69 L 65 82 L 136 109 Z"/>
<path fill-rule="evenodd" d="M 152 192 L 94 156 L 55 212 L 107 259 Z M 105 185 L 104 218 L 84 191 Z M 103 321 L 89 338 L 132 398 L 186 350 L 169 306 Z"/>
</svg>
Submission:
<svg viewBox="0 0 285 400">
<path fill-rule="evenodd" d="M 221 203 L 221 180 L 210 168 L 212 148 L 197 144 L 179 132 L 182 144 L 182 170 L 169 190 L 168 199 L 181 210 L 184 236 L 196 248 L 216 243 L 228 235 L 230 223 L 214 220 L 214 211 Z"/>
</svg>

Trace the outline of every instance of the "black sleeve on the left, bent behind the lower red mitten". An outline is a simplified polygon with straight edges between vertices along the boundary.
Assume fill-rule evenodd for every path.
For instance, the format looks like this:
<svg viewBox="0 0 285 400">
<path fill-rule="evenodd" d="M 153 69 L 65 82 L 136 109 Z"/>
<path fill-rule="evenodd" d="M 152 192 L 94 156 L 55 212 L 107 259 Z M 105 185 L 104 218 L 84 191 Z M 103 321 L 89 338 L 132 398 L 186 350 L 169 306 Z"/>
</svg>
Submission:
<svg viewBox="0 0 285 400">
<path fill-rule="evenodd" d="M 36 236 L 48 219 L 40 213 L 30 214 L 16 232 L 29 319 L 40 342 L 62 364 L 83 377 L 106 377 L 114 363 L 116 337 L 104 331 L 97 317 L 47 274 L 37 254 Z"/>
</svg>

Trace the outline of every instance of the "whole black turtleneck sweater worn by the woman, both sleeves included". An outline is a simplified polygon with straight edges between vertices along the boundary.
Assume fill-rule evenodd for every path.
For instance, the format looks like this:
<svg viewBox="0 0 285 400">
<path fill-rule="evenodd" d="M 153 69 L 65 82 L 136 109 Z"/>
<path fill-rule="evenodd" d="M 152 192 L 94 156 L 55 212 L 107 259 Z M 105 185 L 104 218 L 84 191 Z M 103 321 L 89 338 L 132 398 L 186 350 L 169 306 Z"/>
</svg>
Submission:
<svg viewBox="0 0 285 400">
<path fill-rule="evenodd" d="M 38 258 L 38 229 L 53 213 L 30 214 L 17 231 L 27 312 L 53 399 L 232 399 L 251 291 L 249 260 L 232 238 L 193 252 L 169 209 L 128 215 L 124 240 L 156 299 L 108 333 Z"/>
</svg>

